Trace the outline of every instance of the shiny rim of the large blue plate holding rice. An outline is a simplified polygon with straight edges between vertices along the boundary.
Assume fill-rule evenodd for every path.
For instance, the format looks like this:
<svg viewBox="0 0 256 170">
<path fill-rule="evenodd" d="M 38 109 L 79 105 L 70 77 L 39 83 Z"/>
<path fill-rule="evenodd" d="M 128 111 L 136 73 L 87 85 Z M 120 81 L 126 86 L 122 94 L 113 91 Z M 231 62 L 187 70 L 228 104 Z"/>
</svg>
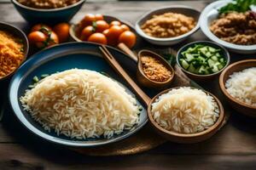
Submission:
<svg viewBox="0 0 256 170">
<path fill-rule="evenodd" d="M 16 71 L 14 77 L 12 77 L 11 81 L 10 81 L 10 85 L 9 85 L 9 103 L 11 106 L 11 110 L 14 111 L 15 116 L 18 118 L 18 120 L 21 122 L 21 124 L 26 127 L 30 132 L 36 134 L 38 137 L 40 137 L 41 139 L 47 140 L 51 143 L 55 143 L 55 144 L 61 144 L 61 145 L 66 145 L 66 146 L 72 146 L 72 147 L 95 147 L 95 146 L 99 146 L 99 145 L 104 145 L 104 144 L 111 144 L 114 142 L 117 142 L 119 140 L 122 139 L 126 139 L 127 137 L 131 136 L 134 133 L 137 133 L 137 131 L 139 129 L 141 129 L 142 127 L 144 127 L 144 125 L 146 125 L 146 123 L 148 122 L 148 117 L 145 119 L 144 122 L 140 123 L 137 128 L 129 131 L 128 133 L 124 133 L 123 135 L 120 135 L 116 138 L 113 139 L 108 139 L 107 141 L 104 142 L 99 142 L 101 139 L 99 140 L 95 140 L 95 141 L 90 141 L 90 143 L 84 143 L 87 140 L 73 140 L 73 139 L 61 139 L 61 138 L 57 138 L 55 136 L 50 135 L 49 133 L 44 133 L 43 131 L 39 130 L 37 127 L 33 126 L 32 123 L 30 123 L 27 119 L 26 116 L 24 116 L 22 108 L 20 108 L 20 101 L 19 101 L 19 96 L 18 96 L 18 90 L 20 88 L 20 86 L 17 86 L 15 84 L 20 84 L 20 82 L 22 82 L 23 79 L 23 74 L 22 73 L 26 73 L 27 71 L 23 71 L 24 69 L 26 69 L 26 65 L 33 65 L 33 63 L 40 63 L 46 59 L 50 59 L 51 56 L 45 57 L 44 59 L 40 58 L 40 56 L 38 56 L 38 54 L 41 53 L 45 53 L 48 52 L 50 50 L 53 50 L 55 48 L 65 48 L 67 46 L 72 46 L 72 45 L 86 45 L 86 44 L 90 44 L 90 45 L 96 45 L 99 46 L 99 44 L 97 43 L 91 43 L 91 42 L 67 42 L 67 43 L 63 43 L 61 45 L 57 45 L 51 48 L 45 48 L 44 50 L 38 52 L 37 54 L 33 54 L 32 57 L 30 59 L 27 59 L 25 63 L 23 63 L 20 68 Z M 109 47 L 108 48 L 112 48 Z M 119 53 L 124 54 L 123 52 L 121 52 L 120 50 L 116 49 L 116 48 L 112 48 L 113 50 L 118 51 Z M 124 54 L 126 55 L 126 54 Z M 127 58 L 129 58 L 127 56 Z M 130 58 L 129 58 L 130 59 Z M 21 71 L 21 73 L 20 73 Z M 129 90 L 131 88 L 128 88 Z M 147 114 L 147 113 L 145 113 Z M 132 127 L 133 128 L 133 127 Z M 106 139 L 104 139 L 106 140 Z"/>
</svg>

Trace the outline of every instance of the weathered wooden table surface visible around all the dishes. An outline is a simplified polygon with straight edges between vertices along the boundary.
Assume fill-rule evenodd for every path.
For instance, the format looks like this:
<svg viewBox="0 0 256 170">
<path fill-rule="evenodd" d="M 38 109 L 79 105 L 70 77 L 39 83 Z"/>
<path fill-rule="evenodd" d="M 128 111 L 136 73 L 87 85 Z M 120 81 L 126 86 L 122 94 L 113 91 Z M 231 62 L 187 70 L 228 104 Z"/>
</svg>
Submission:
<svg viewBox="0 0 256 170">
<path fill-rule="evenodd" d="M 85 3 L 73 20 L 85 13 L 111 14 L 134 23 L 139 16 L 153 8 L 173 4 L 204 8 L 210 1 L 172 2 L 109 2 Z M 22 29 L 27 23 L 11 3 L 0 3 L 0 21 Z M 189 41 L 207 39 L 198 31 Z M 186 43 L 186 42 L 183 42 Z M 174 47 L 174 48 L 178 48 Z M 231 54 L 232 61 L 256 58 L 254 55 Z M 218 81 L 201 86 L 219 93 Z M 3 96 L 6 89 L 0 89 Z M 3 98 L 3 101 L 7 100 Z M 2 101 L 2 104 L 3 104 Z M 0 122 L 0 169 L 256 169 L 256 120 L 232 111 L 230 120 L 212 139 L 199 144 L 168 142 L 154 150 L 134 156 L 95 157 L 79 155 L 65 147 L 45 142 L 29 133 L 11 112 L 4 112 Z"/>
</svg>

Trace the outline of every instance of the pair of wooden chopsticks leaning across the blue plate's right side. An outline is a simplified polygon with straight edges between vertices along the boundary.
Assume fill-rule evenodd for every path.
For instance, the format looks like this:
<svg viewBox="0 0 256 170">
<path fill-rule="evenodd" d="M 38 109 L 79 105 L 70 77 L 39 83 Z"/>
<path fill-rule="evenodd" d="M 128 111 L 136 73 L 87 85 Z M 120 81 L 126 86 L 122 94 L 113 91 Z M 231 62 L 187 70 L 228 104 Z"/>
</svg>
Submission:
<svg viewBox="0 0 256 170">
<path fill-rule="evenodd" d="M 150 98 L 147 94 L 143 92 L 141 88 L 137 86 L 137 83 L 134 82 L 131 77 L 126 73 L 126 71 L 119 65 L 118 61 L 114 59 L 113 55 L 108 51 L 108 48 L 106 46 L 101 45 L 100 50 L 102 51 L 102 54 L 104 58 L 108 61 L 108 64 L 112 66 L 112 68 L 119 73 L 121 77 L 125 79 L 125 81 L 131 86 L 131 88 L 135 91 L 138 97 L 140 97 L 143 100 L 143 103 L 148 106 L 150 103 Z"/>
</svg>

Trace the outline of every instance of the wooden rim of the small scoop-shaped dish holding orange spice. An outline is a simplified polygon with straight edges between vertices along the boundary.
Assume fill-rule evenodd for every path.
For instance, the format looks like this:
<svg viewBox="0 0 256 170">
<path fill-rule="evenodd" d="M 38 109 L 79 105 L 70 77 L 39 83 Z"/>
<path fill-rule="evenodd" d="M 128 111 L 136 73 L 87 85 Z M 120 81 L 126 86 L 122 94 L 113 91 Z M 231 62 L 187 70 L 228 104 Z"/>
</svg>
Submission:
<svg viewBox="0 0 256 170">
<path fill-rule="evenodd" d="M 168 67 L 167 69 L 172 72 L 171 77 L 170 77 L 168 80 L 166 80 L 165 82 L 156 82 L 156 81 L 150 80 L 150 79 L 144 74 L 144 71 L 143 71 L 143 68 L 142 68 L 142 65 L 141 65 L 141 56 L 142 56 L 142 53 L 154 54 L 154 55 L 157 56 L 159 59 L 161 59 L 161 62 L 163 62 L 163 64 L 164 64 L 166 67 Z M 174 75 L 175 75 L 175 71 L 174 71 L 172 65 L 170 65 L 170 64 L 166 61 L 166 59 L 164 59 L 162 56 L 160 56 L 160 54 L 156 54 L 156 53 L 154 53 L 153 51 L 148 50 L 148 49 L 142 49 L 142 50 L 139 51 L 139 53 L 137 54 L 137 56 L 138 56 L 138 62 L 137 62 L 138 71 L 140 71 L 140 73 L 143 75 L 143 77 L 145 77 L 145 78 L 148 80 L 148 82 L 150 82 L 150 83 L 152 83 L 152 84 L 159 84 L 159 85 L 162 85 L 162 86 L 164 86 L 164 85 L 169 84 L 169 83 L 172 82 L 172 80 L 173 80 L 173 78 L 174 78 Z M 150 57 L 154 57 L 154 56 L 150 56 Z"/>
</svg>

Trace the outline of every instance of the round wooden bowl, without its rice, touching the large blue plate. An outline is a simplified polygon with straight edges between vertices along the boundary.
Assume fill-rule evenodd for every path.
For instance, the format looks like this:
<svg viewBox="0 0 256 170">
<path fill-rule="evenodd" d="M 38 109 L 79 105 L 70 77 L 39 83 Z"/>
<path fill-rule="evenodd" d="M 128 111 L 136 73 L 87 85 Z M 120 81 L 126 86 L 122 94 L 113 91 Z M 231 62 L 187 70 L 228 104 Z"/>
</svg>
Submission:
<svg viewBox="0 0 256 170">
<path fill-rule="evenodd" d="M 177 87 L 180 88 L 180 87 Z M 218 130 L 222 127 L 222 124 L 224 122 L 224 108 L 223 105 L 220 103 L 217 97 L 215 97 L 213 94 L 204 91 L 205 93 L 211 95 L 215 102 L 218 105 L 219 109 L 219 117 L 217 122 L 215 122 L 212 127 L 208 128 L 207 130 L 204 130 L 200 133 L 191 133 L 191 134 L 185 134 L 185 133 L 175 133 L 172 131 L 168 131 L 163 127 L 160 127 L 160 125 L 154 121 L 154 118 L 152 116 L 151 110 L 152 107 L 151 105 L 154 103 L 155 99 L 158 99 L 161 94 L 166 94 L 170 90 L 174 88 L 166 89 L 165 91 L 161 92 L 160 94 L 157 94 L 151 101 L 150 104 L 148 105 L 148 119 L 149 122 L 151 123 L 152 127 L 156 131 L 156 133 L 159 133 L 162 137 L 176 143 L 181 143 L 181 144 L 193 144 L 193 143 L 198 143 L 203 140 L 209 139 L 212 137 L 213 134 L 217 133 Z"/>
</svg>

